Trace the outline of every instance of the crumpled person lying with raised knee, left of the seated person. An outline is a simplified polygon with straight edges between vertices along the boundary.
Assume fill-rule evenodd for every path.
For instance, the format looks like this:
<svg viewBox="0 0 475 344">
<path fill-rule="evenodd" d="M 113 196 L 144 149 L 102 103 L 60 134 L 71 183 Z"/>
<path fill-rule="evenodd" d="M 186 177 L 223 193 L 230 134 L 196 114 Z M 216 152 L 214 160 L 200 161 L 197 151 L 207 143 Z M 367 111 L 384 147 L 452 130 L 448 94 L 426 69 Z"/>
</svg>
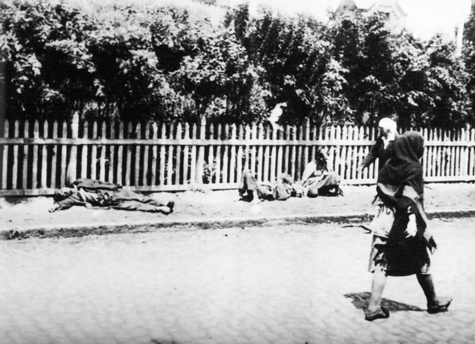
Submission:
<svg viewBox="0 0 475 344">
<path fill-rule="evenodd" d="M 299 196 L 298 190 L 299 187 L 295 185 L 292 177 L 286 173 L 279 175 L 273 182 L 258 182 L 251 171 L 244 169 L 238 192 L 240 200 L 259 203 L 260 200 L 285 201 L 291 196 Z"/>
</svg>

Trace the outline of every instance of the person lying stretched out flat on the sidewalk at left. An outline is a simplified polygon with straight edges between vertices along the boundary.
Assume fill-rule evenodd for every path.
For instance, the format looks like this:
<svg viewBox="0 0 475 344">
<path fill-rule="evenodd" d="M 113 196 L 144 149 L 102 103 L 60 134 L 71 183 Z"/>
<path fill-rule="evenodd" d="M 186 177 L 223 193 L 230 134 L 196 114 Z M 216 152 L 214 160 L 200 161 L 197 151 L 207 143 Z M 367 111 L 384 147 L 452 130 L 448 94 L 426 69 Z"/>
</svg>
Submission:
<svg viewBox="0 0 475 344">
<path fill-rule="evenodd" d="M 112 183 L 85 178 L 74 181 L 71 189 L 56 193 L 49 212 L 69 209 L 73 205 L 85 206 L 88 209 L 139 210 L 165 215 L 172 213 L 174 208 L 174 202 L 145 196 Z"/>
</svg>

